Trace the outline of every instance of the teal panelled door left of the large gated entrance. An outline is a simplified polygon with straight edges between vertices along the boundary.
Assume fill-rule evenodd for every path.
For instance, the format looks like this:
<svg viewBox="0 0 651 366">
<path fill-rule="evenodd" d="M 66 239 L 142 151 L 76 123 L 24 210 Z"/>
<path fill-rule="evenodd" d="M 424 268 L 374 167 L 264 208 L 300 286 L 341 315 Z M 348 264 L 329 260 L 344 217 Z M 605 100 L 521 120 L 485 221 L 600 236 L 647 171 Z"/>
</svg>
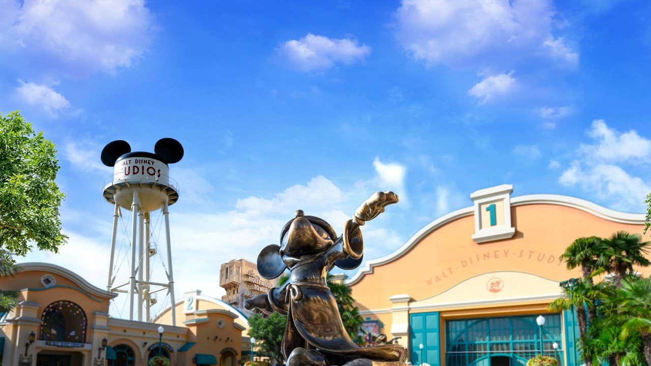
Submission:
<svg viewBox="0 0 651 366">
<path fill-rule="evenodd" d="M 409 315 L 409 345 L 412 365 L 441 365 L 439 313 Z M 421 348 L 422 345 L 422 348 Z"/>
</svg>

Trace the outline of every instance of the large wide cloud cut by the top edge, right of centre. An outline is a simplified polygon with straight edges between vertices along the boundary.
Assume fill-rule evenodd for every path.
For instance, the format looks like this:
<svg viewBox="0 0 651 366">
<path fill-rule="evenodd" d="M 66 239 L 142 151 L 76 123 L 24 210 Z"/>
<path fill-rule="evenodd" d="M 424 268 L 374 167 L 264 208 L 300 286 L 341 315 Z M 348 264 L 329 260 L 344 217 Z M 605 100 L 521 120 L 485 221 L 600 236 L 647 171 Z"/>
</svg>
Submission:
<svg viewBox="0 0 651 366">
<path fill-rule="evenodd" d="M 398 40 L 417 60 L 448 66 L 503 66 L 545 55 L 575 63 L 578 55 L 551 35 L 551 0 L 402 0 Z"/>
</svg>

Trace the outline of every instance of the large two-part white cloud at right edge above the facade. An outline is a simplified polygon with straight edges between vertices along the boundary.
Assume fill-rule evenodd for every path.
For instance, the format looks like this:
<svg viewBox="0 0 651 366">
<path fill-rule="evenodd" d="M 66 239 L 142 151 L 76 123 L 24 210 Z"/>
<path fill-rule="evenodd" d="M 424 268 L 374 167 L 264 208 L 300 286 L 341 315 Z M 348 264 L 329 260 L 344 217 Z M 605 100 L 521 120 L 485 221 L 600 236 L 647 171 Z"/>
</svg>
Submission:
<svg viewBox="0 0 651 366">
<path fill-rule="evenodd" d="M 588 131 L 592 144 L 582 144 L 577 159 L 559 176 L 562 186 L 577 186 L 620 210 L 644 208 L 651 186 L 628 171 L 651 158 L 651 140 L 637 132 L 619 132 L 604 120 L 594 120 Z"/>
</svg>

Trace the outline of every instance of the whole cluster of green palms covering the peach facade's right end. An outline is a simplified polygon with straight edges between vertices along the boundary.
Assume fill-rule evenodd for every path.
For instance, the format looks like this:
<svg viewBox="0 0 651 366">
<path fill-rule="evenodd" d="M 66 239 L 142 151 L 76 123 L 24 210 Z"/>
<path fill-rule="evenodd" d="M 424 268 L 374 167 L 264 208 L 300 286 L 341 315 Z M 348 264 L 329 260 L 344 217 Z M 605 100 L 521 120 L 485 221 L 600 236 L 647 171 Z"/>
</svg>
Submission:
<svg viewBox="0 0 651 366">
<path fill-rule="evenodd" d="M 637 234 L 618 231 L 608 238 L 578 238 L 561 255 L 568 268 L 581 267 L 583 278 L 563 281 L 562 296 L 549 309 L 577 312 L 586 365 L 651 365 L 651 279 L 635 272 L 651 264 L 649 245 Z M 592 277 L 603 272 L 608 275 L 594 283 Z"/>
</svg>

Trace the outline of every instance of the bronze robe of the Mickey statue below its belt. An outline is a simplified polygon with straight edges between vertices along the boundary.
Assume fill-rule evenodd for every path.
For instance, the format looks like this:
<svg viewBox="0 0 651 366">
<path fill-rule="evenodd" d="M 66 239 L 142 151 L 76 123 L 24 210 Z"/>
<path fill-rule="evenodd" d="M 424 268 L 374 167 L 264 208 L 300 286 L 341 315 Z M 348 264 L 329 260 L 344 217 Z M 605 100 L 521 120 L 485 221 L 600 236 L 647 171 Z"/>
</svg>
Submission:
<svg viewBox="0 0 651 366">
<path fill-rule="evenodd" d="M 283 337 L 285 358 L 297 347 L 316 348 L 337 359 L 367 358 L 372 361 L 405 361 L 407 350 L 400 345 L 359 347 L 350 339 L 327 287 L 291 285 L 289 311 Z"/>
</svg>

